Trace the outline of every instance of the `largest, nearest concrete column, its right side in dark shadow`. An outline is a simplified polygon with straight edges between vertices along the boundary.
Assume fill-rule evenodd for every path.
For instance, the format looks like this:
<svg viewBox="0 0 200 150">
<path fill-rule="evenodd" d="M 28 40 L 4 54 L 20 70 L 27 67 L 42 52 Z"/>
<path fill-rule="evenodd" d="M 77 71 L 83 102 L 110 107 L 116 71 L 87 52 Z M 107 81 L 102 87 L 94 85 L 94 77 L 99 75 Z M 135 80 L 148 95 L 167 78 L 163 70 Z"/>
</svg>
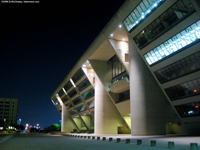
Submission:
<svg viewBox="0 0 200 150">
<path fill-rule="evenodd" d="M 174 112 L 133 40 L 129 41 L 129 66 L 131 134 L 166 134 L 165 124 Z"/>
</svg>

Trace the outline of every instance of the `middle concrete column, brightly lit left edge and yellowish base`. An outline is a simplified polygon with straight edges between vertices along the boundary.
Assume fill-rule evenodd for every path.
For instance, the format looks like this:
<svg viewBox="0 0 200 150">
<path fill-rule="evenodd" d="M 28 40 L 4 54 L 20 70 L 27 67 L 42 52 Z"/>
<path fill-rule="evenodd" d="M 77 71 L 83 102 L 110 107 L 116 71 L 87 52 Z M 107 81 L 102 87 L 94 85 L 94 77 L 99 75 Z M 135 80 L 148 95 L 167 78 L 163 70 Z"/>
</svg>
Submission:
<svg viewBox="0 0 200 150">
<path fill-rule="evenodd" d="M 95 75 L 95 134 L 117 134 L 119 113 Z"/>
</svg>

